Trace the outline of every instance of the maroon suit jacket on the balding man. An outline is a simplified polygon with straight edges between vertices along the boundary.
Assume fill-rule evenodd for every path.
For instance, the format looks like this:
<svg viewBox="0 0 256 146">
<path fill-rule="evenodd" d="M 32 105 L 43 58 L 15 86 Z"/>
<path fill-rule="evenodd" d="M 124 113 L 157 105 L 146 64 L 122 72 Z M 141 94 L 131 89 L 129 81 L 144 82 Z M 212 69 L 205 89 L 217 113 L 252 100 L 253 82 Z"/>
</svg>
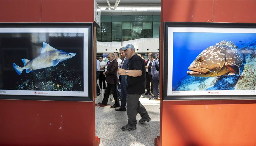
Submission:
<svg viewBox="0 0 256 146">
<path fill-rule="evenodd" d="M 117 84 L 118 83 L 117 76 L 116 76 L 117 69 L 118 69 L 118 62 L 115 59 L 108 65 L 108 69 L 106 71 L 107 83 L 109 83 L 109 84 Z"/>
</svg>

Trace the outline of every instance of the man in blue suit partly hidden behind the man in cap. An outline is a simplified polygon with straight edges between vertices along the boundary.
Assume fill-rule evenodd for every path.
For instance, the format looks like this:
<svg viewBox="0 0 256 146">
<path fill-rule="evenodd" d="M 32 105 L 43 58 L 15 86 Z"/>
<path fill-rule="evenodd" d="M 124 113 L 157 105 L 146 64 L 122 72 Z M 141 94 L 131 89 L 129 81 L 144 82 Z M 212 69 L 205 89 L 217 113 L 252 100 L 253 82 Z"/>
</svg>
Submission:
<svg viewBox="0 0 256 146">
<path fill-rule="evenodd" d="M 126 58 L 125 56 L 125 51 L 120 48 L 119 49 L 120 55 L 123 58 L 120 69 L 127 70 L 128 64 L 129 64 L 129 59 Z M 125 84 L 125 75 L 120 75 L 119 76 L 119 81 L 120 81 L 120 88 L 121 88 L 121 106 L 119 109 L 116 109 L 116 111 L 126 111 L 126 101 L 127 101 L 127 91 L 126 91 L 126 84 Z"/>
</svg>

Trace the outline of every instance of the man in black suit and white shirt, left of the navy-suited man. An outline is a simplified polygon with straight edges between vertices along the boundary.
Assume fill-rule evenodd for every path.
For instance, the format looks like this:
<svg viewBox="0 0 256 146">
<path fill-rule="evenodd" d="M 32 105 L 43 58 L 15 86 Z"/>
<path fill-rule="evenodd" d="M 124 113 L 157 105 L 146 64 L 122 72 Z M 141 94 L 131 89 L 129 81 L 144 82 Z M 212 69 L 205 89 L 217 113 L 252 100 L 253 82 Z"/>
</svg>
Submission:
<svg viewBox="0 0 256 146">
<path fill-rule="evenodd" d="M 147 92 L 145 93 L 145 95 L 151 95 L 153 93 L 153 81 L 150 75 L 150 71 L 151 71 L 151 66 L 152 66 L 152 61 L 150 60 L 152 53 L 148 54 L 148 61 L 146 64 L 146 87 L 147 87 Z M 150 92 L 150 83 L 151 83 L 151 92 Z"/>
</svg>

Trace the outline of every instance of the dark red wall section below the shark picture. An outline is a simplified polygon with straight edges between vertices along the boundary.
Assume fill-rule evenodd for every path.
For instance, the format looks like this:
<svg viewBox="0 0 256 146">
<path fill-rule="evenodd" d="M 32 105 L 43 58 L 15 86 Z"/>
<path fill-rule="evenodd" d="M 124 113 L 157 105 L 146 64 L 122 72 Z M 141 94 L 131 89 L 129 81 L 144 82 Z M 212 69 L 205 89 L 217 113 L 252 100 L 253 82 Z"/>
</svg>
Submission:
<svg viewBox="0 0 256 146">
<path fill-rule="evenodd" d="M 93 145 L 92 102 L 0 100 L 0 107 L 0 145 Z"/>
</svg>

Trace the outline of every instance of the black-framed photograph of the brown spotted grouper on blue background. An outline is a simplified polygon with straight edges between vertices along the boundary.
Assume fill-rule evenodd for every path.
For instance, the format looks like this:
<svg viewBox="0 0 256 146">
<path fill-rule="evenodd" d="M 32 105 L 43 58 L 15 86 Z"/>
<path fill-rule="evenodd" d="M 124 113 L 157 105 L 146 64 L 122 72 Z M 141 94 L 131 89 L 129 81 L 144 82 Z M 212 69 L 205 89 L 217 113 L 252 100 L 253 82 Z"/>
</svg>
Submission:
<svg viewBox="0 0 256 146">
<path fill-rule="evenodd" d="M 164 22 L 163 100 L 256 99 L 256 24 Z"/>
</svg>

